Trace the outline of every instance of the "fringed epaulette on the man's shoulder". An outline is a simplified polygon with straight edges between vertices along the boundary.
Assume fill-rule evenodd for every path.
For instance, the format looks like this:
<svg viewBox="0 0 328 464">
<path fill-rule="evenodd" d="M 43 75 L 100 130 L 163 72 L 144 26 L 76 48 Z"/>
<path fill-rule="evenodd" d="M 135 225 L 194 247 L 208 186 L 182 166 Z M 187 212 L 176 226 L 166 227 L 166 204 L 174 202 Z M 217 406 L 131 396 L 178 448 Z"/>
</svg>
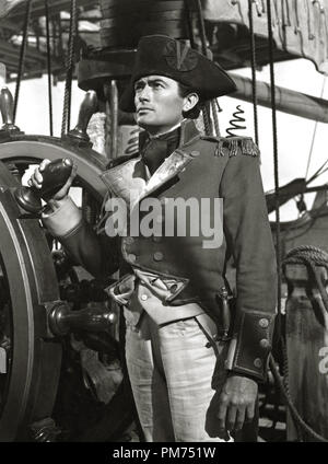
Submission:
<svg viewBox="0 0 328 464">
<path fill-rule="evenodd" d="M 246 154 L 249 156 L 259 156 L 260 151 L 254 143 L 251 137 L 213 137 L 201 136 L 202 140 L 208 140 L 216 143 L 215 156 L 237 156 Z"/>
</svg>

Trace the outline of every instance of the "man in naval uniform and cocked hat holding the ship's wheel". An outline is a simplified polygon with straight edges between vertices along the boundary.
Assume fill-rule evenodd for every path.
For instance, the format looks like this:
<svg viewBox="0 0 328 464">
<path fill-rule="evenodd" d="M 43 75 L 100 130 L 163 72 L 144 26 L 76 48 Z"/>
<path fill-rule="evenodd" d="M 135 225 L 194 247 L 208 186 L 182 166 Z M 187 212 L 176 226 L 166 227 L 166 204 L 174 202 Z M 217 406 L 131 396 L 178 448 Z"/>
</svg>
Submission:
<svg viewBox="0 0 328 464">
<path fill-rule="evenodd" d="M 254 419 L 266 378 L 276 262 L 258 151 L 251 139 L 203 137 L 189 119 L 201 101 L 234 90 L 219 66 L 186 45 L 143 37 L 120 100 L 144 129 L 140 153 L 114 160 L 103 175 L 109 195 L 98 235 L 67 196 L 73 175 L 43 214 L 95 276 L 121 270 L 108 292 L 125 312 L 127 368 L 147 441 L 230 440 Z M 33 176 L 36 186 L 46 163 Z M 169 216 L 173 200 L 189 201 L 189 214 Z M 114 210 L 122 202 L 129 221 L 117 230 Z M 119 258 L 117 240 L 107 237 L 104 247 L 102 230 L 122 235 Z M 236 268 L 231 310 L 230 257 Z"/>
</svg>

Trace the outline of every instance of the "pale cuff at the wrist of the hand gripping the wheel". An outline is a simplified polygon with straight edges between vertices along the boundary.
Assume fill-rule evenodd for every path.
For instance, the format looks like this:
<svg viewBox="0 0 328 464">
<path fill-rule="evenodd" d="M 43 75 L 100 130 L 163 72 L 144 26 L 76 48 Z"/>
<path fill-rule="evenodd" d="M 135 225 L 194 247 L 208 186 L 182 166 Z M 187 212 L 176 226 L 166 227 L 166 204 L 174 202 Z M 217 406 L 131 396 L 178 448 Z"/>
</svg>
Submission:
<svg viewBox="0 0 328 464">
<path fill-rule="evenodd" d="M 70 197 L 66 197 L 57 204 L 58 207 L 55 211 L 43 212 L 42 221 L 51 235 L 63 237 L 82 223 L 82 211 Z"/>
</svg>

